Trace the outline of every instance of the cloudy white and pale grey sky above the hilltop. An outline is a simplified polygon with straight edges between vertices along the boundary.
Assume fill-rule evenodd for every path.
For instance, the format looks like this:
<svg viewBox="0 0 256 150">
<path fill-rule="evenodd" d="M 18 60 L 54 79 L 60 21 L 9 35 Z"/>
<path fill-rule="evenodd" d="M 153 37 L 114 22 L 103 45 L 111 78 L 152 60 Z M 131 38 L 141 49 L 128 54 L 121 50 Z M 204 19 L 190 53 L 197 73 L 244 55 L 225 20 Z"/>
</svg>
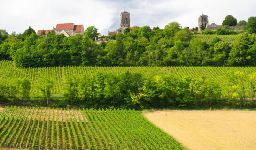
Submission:
<svg viewBox="0 0 256 150">
<path fill-rule="evenodd" d="M 37 30 L 57 23 L 95 25 L 101 34 L 120 26 L 120 12 L 130 12 L 131 27 L 151 28 L 177 21 L 182 27 L 196 27 L 198 17 L 209 16 L 209 24 L 222 24 L 226 15 L 238 21 L 256 16 L 256 0 L 0 0 L 0 29 L 23 33 L 29 26 Z"/>
</svg>

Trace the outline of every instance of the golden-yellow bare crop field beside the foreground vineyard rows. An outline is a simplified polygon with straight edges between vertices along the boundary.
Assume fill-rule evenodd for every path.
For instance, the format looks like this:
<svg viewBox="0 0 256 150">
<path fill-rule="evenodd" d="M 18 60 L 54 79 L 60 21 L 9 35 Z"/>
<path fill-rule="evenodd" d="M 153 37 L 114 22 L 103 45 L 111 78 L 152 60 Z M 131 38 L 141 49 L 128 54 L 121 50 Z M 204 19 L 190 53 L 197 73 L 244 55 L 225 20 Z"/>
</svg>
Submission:
<svg viewBox="0 0 256 150">
<path fill-rule="evenodd" d="M 155 111 L 144 116 L 188 150 L 256 149 L 256 111 Z"/>
</svg>

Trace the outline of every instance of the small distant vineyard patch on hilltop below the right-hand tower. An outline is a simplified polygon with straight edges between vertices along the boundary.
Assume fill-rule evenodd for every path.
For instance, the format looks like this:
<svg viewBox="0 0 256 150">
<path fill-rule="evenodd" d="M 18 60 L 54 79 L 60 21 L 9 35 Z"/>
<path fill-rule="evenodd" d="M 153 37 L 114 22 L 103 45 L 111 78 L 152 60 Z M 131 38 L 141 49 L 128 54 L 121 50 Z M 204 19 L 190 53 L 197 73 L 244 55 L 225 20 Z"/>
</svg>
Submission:
<svg viewBox="0 0 256 150">
<path fill-rule="evenodd" d="M 214 38 L 218 37 L 222 41 L 233 43 L 235 40 L 237 40 L 239 38 L 239 36 L 240 35 L 202 35 L 202 34 L 198 34 L 198 35 L 193 35 L 192 38 L 199 38 L 200 40 L 209 44 Z"/>
</svg>

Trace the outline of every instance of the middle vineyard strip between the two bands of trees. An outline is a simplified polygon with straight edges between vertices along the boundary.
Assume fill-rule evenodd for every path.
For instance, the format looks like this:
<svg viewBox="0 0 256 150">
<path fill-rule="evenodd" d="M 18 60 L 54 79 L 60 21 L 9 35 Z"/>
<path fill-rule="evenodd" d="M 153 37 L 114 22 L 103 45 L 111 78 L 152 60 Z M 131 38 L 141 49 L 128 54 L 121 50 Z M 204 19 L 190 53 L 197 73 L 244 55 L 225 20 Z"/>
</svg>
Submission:
<svg viewBox="0 0 256 150">
<path fill-rule="evenodd" d="M 246 74 L 256 72 L 256 67 L 44 67 L 19 69 L 12 61 L 0 61 L 0 83 L 13 84 L 18 78 L 27 78 L 31 82 L 31 97 L 39 93 L 37 82 L 45 77 L 54 81 L 52 93 L 62 96 L 65 82 L 68 78 L 82 75 L 93 75 L 97 72 L 121 74 L 126 71 L 132 73 L 142 72 L 145 75 L 166 75 L 172 74 L 178 77 L 189 76 L 191 78 L 212 78 L 223 88 L 223 96 L 228 94 L 230 89 L 228 75 L 235 71 L 242 71 Z"/>
</svg>

